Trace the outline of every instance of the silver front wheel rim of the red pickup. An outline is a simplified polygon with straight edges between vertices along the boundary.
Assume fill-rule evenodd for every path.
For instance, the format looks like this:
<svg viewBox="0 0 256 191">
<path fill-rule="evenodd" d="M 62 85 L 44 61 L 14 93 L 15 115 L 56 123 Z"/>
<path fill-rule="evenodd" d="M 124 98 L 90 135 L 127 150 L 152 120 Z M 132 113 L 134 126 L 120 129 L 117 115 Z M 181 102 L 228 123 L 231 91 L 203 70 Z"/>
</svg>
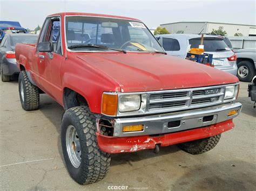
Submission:
<svg viewBox="0 0 256 191">
<path fill-rule="evenodd" d="M 73 125 L 69 125 L 66 130 L 66 151 L 71 164 L 78 168 L 81 164 L 81 148 L 77 131 Z"/>
</svg>

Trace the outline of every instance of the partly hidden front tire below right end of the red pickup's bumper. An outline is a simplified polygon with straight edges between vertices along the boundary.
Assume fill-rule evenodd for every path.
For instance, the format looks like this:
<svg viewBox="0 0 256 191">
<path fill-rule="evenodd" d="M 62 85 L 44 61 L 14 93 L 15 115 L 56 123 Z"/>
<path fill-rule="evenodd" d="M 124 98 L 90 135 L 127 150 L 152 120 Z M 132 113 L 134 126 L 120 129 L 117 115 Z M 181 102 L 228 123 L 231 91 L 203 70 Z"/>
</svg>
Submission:
<svg viewBox="0 0 256 191">
<path fill-rule="evenodd" d="M 178 147 L 190 154 L 201 154 L 212 150 L 220 140 L 221 134 L 208 137 L 204 139 L 193 140 L 191 142 L 185 142 L 178 144 Z"/>
</svg>

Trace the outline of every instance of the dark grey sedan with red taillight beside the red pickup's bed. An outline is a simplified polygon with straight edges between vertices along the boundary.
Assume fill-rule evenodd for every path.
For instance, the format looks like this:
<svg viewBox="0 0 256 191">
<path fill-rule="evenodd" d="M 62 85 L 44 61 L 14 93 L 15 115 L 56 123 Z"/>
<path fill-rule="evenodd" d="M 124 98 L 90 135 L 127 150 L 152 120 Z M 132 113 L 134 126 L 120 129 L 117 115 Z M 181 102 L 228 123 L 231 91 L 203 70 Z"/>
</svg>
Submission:
<svg viewBox="0 0 256 191">
<path fill-rule="evenodd" d="M 17 43 L 36 44 L 37 34 L 5 34 L 0 46 L 1 80 L 9 82 L 11 75 L 19 73 L 15 59 Z"/>
</svg>

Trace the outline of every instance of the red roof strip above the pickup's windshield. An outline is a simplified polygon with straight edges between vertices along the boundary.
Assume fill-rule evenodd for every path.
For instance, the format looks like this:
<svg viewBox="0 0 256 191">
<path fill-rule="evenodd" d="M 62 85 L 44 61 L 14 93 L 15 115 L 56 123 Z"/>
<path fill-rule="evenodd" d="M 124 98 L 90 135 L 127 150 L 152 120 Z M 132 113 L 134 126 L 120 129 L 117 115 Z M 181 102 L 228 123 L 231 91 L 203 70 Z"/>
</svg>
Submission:
<svg viewBox="0 0 256 191">
<path fill-rule="evenodd" d="M 60 12 L 55 13 L 52 15 L 49 15 L 48 17 L 52 16 L 91 16 L 91 17 L 110 17 L 110 18 L 118 18 L 118 19 L 127 19 L 127 20 L 137 20 L 141 22 L 141 20 L 136 18 L 130 18 L 130 17 L 122 17 L 122 16 L 115 16 L 115 15 L 103 15 L 103 14 L 96 14 L 96 13 L 85 13 L 85 12 Z"/>
</svg>

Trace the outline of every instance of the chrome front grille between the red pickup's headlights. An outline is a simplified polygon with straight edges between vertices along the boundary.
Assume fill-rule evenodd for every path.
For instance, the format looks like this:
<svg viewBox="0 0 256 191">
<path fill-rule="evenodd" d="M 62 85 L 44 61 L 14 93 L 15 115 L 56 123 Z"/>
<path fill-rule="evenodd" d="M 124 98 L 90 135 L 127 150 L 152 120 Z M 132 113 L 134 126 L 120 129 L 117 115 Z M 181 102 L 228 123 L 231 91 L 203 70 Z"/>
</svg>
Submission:
<svg viewBox="0 0 256 191">
<path fill-rule="evenodd" d="M 178 111 L 223 102 L 225 86 L 150 93 L 147 111 Z"/>
</svg>

